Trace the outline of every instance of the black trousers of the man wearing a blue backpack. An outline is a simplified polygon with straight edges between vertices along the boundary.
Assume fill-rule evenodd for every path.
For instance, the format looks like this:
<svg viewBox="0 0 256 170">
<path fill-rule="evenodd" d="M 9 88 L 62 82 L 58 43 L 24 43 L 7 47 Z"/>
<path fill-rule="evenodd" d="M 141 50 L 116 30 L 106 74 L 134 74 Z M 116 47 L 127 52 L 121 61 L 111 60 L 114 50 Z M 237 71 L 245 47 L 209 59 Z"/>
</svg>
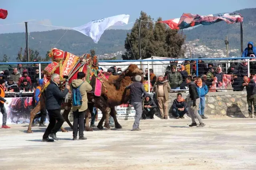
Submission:
<svg viewBox="0 0 256 170">
<path fill-rule="evenodd" d="M 85 126 L 85 111 L 83 112 L 79 112 L 77 111 L 73 111 L 73 137 L 77 137 L 77 132 L 79 129 L 79 137 L 83 137 L 84 136 L 84 126 Z"/>
</svg>

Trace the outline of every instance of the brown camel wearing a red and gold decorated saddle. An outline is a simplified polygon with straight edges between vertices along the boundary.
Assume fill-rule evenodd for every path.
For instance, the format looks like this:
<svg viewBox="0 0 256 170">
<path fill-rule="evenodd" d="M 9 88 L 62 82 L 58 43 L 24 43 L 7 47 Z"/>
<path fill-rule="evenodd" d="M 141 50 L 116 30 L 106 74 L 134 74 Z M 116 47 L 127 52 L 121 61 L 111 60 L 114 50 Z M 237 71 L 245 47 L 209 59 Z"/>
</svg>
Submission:
<svg viewBox="0 0 256 170">
<path fill-rule="evenodd" d="M 93 87 L 93 90 L 87 93 L 88 109 L 85 115 L 85 130 L 93 131 L 93 129 L 89 127 L 89 119 L 91 118 L 93 107 L 100 109 L 103 115 L 97 126 L 99 129 L 103 129 L 104 120 L 104 127 L 110 129 L 109 114 L 114 119 L 115 128 L 122 128 L 117 121 L 115 106 L 129 101 L 130 91 L 125 91 L 125 87 L 133 83 L 132 79 L 135 75 L 143 75 L 143 71 L 141 71 L 137 65 L 130 64 L 121 75 L 114 76 L 107 72 L 104 73 L 99 69 L 96 56 L 92 58 L 90 55 L 87 55 L 87 58 L 83 59 L 83 57 L 79 58 L 69 52 L 64 52 L 56 48 L 51 50 L 49 56 L 52 57 L 53 62 L 44 69 L 45 77 L 41 91 L 42 95 L 40 96 L 38 105 L 30 113 L 28 133 L 32 132 L 31 126 L 36 113 L 38 113 L 41 108 L 45 107 L 44 90 L 50 83 L 50 76 L 53 73 L 58 73 L 62 84 L 66 81 L 64 77 L 68 76 L 69 83 L 71 83 L 73 79 L 77 78 L 79 71 L 83 71 L 86 74 L 86 81 Z M 64 113 L 62 116 L 69 126 L 73 128 L 73 125 L 69 121 L 71 102 L 71 99 L 69 99 L 68 102 L 63 103 L 62 109 L 64 109 Z M 62 129 L 62 131 L 65 131 L 65 129 Z"/>
</svg>

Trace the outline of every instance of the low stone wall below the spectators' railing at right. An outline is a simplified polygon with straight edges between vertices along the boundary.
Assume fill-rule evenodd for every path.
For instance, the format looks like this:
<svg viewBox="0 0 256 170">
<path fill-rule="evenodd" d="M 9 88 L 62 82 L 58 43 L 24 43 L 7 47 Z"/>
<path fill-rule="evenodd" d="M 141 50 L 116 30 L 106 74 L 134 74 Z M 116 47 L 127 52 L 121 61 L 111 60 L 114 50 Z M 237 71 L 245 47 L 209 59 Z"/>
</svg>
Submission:
<svg viewBox="0 0 256 170">
<path fill-rule="evenodd" d="M 182 93 L 186 99 L 188 93 Z M 169 93 L 169 109 L 176 99 L 177 93 Z M 169 110 L 171 116 L 171 110 Z M 209 92 L 206 95 L 205 115 L 219 115 L 229 117 L 247 117 L 248 104 L 246 91 Z"/>
</svg>

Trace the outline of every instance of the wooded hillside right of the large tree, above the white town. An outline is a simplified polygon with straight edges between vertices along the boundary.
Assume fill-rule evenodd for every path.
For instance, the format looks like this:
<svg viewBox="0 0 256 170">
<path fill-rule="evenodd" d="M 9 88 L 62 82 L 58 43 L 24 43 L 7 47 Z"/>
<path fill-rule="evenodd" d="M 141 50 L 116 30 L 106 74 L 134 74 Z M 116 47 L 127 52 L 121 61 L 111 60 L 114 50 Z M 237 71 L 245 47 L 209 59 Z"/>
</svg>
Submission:
<svg viewBox="0 0 256 170">
<path fill-rule="evenodd" d="M 243 36 L 244 48 L 247 47 L 249 41 L 254 41 L 256 37 L 256 8 L 243 9 L 235 11 L 244 17 Z M 210 49 L 223 50 L 226 53 L 226 45 L 224 40 L 228 36 L 229 49 L 232 50 L 230 55 L 240 56 L 240 23 L 227 24 L 226 22 L 218 22 L 210 26 L 198 26 L 191 30 L 184 30 L 186 42 L 193 44 L 205 45 Z M 197 40 L 195 42 L 195 40 Z M 236 50 L 238 49 L 238 50 Z"/>
</svg>

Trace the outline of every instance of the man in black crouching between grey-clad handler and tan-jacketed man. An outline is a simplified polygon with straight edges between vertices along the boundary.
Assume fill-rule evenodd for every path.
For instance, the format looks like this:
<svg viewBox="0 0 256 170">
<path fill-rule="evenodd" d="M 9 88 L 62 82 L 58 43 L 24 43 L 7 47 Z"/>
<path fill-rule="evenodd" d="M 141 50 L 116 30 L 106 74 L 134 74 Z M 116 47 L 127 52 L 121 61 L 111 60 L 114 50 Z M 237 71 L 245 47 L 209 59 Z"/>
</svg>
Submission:
<svg viewBox="0 0 256 170">
<path fill-rule="evenodd" d="M 147 119 L 147 116 L 150 119 L 154 119 L 154 115 L 156 113 L 157 105 L 155 104 L 154 100 L 151 99 L 150 95 L 147 93 L 144 101 L 144 109 L 142 111 L 142 119 Z"/>
</svg>

